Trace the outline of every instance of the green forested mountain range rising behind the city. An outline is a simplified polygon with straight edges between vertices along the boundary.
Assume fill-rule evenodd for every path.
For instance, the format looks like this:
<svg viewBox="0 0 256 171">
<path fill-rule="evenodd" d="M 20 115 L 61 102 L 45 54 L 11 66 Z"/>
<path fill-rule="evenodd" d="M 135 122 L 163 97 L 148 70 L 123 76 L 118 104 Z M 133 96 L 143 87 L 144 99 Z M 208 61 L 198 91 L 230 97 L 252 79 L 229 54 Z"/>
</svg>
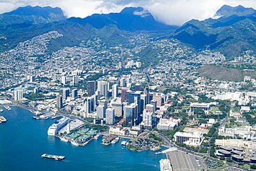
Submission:
<svg viewBox="0 0 256 171">
<path fill-rule="evenodd" d="M 64 46 L 78 46 L 82 40 L 100 37 L 104 43 L 128 43 L 130 34 L 147 32 L 152 37 L 163 35 L 179 39 L 197 50 L 221 52 L 231 60 L 246 50 L 256 52 L 256 11 L 243 6 L 222 6 L 217 19 L 192 19 L 183 26 L 168 26 L 154 19 L 143 8 L 124 8 L 119 13 L 93 14 L 84 19 L 66 18 L 60 8 L 18 8 L 0 14 L 0 51 L 10 50 L 21 41 L 52 30 L 64 37 L 52 40 L 49 50 Z"/>
</svg>

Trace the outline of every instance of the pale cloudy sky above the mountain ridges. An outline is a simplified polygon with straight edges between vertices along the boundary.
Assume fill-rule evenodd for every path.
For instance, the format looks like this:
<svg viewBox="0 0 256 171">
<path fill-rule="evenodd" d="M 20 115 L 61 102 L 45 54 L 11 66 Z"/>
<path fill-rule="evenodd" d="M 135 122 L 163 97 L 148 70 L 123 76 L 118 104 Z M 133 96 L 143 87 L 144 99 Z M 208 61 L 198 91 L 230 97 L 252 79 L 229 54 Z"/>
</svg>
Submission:
<svg viewBox="0 0 256 171">
<path fill-rule="evenodd" d="M 0 0 L 0 14 L 23 6 L 62 8 L 67 17 L 120 12 L 125 7 L 143 7 L 157 21 L 181 26 L 190 19 L 208 19 L 223 5 L 256 9 L 256 0 Z"/>
</svg>

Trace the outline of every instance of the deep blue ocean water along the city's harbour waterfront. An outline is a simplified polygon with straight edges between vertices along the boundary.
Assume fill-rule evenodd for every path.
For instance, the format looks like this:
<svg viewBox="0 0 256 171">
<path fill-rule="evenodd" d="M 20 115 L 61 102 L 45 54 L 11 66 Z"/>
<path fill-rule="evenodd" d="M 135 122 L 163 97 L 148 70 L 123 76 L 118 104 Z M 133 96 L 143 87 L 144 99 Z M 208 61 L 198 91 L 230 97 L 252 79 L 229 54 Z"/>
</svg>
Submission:
<svg viewBox="0 0 256 171">
<path fill-rule="evenodd" d="M 48 136 L 48 127 L 57 119 L 35 120 L 30 111 L 11 107 L 0 112 L 7 119 L 0 124 L 0 170 L 160 170 L 165 154 L 151 150 L 134 152 L 118 143 L 102 145 L 102 138 L 86 146 Z M 166 148 L 162 148 L 165 150 Z M 42 154 L 64 155 L 66 159 L 42 159 Z M 147 163 L 149 165 L 141 164 Z M 156 165 L 156 166 L 152 166 Z"/>
</svg>

